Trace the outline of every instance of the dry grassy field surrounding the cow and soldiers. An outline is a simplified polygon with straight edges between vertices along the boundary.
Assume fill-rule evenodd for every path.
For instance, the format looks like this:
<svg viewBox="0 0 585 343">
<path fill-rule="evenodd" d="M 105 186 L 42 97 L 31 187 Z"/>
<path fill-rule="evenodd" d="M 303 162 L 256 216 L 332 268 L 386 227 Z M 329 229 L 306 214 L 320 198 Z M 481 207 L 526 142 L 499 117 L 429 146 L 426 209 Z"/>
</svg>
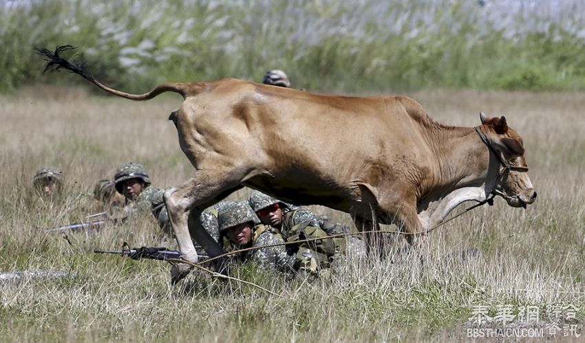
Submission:
<svg viewBox="0 0 585 343">
<path fill-rule="evenodd" d="M 91 213 L 93 185 L 125 162 L 144 164 L 154 186 L 187 180 L 192 167 L 167 120 L 180 98 L 136 103 L 40 86 L 0 96 L 0 271 L 41 269 L 71 276 L 1 283 L 1 340 L 462 340 L 480 305 L 489 307 L 492 317 L 502 305 L 514 314 L 523 306 L 538 307 L 539 322 L 515 320 L 511 326 L 546 328 L 558 322 L 560 327 L 577 324 L 580 332 L 585 318 L 585 95 L 407 95 L 445 124 L 475 126 L 479 111 L 506 115 L 524 137 L 538 200 L 523 210 L 496 199 L 492 207 L 449 222 L 429 235 L 423 266 L 399 252 L 394 263 L 350 256 L 332 275 L 310 284 L 291 283 L 249 265 L 235 271 L 279 296 L 203 274 L 171 287 L 165 263 L 92 253 L 119 248 L 123 241 L 174 248 L 150 217 L 109 225 L 96 234 L 69 234 L 67 240 L 41 230 Z M 34 171 L 45 164 L 66 175 L 67 194 L 53 202 L 40 201 L 30 190 Z M 314 209 L 349 223 L 346 214 Z M 462 261 L 462 252 L 470 249 L 479 254 Z M 553 309 L 567 305 L 578 309 L 577 319 L 563 311 L 556 320 Z"/>
</svg>

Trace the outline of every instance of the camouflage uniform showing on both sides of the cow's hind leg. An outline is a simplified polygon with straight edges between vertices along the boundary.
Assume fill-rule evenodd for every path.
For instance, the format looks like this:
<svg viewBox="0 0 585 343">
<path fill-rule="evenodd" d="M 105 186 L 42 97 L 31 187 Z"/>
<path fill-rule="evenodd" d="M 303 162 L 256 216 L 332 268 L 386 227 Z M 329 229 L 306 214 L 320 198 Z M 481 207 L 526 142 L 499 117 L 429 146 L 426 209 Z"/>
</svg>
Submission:
<svg viewBox="0 0 585 343">
<path fill-rule="evenodd" d="M 164 191 L 169 188 L 163 188 L 155 193 L 151 199 L 151 211 L 154 218 L 158 221 L 158 226 L 167 234 L 173 234 L 171 228 L 171 220 L 169 219 L 169 212 L 167 212 L 167 206 L 164 206 Z M 216 203 L 215 205 L 206 208 L 199 218 L 203 228 L 209 233 L 211 238 L 216 242 L 220 241 L 220 225 L 217 223 L 217 212 L 224 202 Z M 195 245 L 195 250 L 198 252 L 202 251 L 200 245 Z"/>
</svg>

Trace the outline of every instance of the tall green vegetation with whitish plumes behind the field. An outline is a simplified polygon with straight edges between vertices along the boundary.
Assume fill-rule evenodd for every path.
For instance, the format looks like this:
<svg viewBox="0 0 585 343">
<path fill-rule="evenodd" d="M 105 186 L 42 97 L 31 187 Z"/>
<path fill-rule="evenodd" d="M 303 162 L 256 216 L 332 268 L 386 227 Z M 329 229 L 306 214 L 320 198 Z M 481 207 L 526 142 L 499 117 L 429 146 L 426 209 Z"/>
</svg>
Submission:
<svg viewBox="0 0 585 343">
<path fill-rule="evenodd" d="M 92 74 L 145 91 L 163 80 L 259 81 L 383 91 L 585 89 L 579 1 L 8 1 L 0 91 L 41 76 L 34 47 L 71 44 Z"/>
</svg>

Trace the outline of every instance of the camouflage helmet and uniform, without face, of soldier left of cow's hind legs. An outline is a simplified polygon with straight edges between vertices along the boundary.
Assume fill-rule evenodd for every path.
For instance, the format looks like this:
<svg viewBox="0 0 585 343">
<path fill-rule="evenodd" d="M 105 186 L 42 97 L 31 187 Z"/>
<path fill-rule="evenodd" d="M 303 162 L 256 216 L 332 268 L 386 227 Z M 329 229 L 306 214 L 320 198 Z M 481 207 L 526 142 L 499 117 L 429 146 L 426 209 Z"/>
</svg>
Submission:
<svg viewBox="0 0 585 343">
<path fill-rule="evenodd" d="M 158 192 L 158 188 L 150 185 L 150 177 L 148 176 L 145 167 L 141 164 L 129 162 L 123 164 L 116 170 L 114 175 L 114 184 L 116 190 L 123 194 L 124 181 L 129 179 L 140 179 L 144 183 L 144 188 L 140 195 L 134 201 L 126 199 L 126 206 L 123 209 L 123 217 L 134 217 L 135 215 L 145 213 L 151 209 L 152 197 Z"/>
</svg>

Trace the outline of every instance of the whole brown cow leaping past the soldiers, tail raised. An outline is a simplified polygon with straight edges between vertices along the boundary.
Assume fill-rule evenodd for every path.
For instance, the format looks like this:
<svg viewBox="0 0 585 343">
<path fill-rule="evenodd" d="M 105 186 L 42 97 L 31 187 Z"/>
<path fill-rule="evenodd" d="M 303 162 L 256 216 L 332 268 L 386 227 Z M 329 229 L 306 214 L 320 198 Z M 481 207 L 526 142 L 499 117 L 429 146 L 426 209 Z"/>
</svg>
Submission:
<svg viewBox="0 0 585 343">
<path fill-rule="evenodd" d="M 198 261 L 192 238 L 210 256 L 222 253 L 198 218 L 242 186 L 348 212 L 359 230 L 394 223 L 407 233 L 431 228 L 463 201 L 482 201 L 491 192 L 513 207 L 535 201 L 522 138 L 504 117 L 482 113 L 476 131 L 434 122 L 403 96 L 325 96 L 233 78 L 169 82 L 136 95 L 111 89 L 61 58 L 68 48 L 39 51 L 47 69 L 63 67 L 131 100 L 166 91 L 184 97 L 170 118 L 195 173 L 167 190 L 164 202 L 188 261 Z M 407 239 L 413 243 L 414 236 Z M 175 267 L 173 280 L 188 270 Z"/>
</svg>

